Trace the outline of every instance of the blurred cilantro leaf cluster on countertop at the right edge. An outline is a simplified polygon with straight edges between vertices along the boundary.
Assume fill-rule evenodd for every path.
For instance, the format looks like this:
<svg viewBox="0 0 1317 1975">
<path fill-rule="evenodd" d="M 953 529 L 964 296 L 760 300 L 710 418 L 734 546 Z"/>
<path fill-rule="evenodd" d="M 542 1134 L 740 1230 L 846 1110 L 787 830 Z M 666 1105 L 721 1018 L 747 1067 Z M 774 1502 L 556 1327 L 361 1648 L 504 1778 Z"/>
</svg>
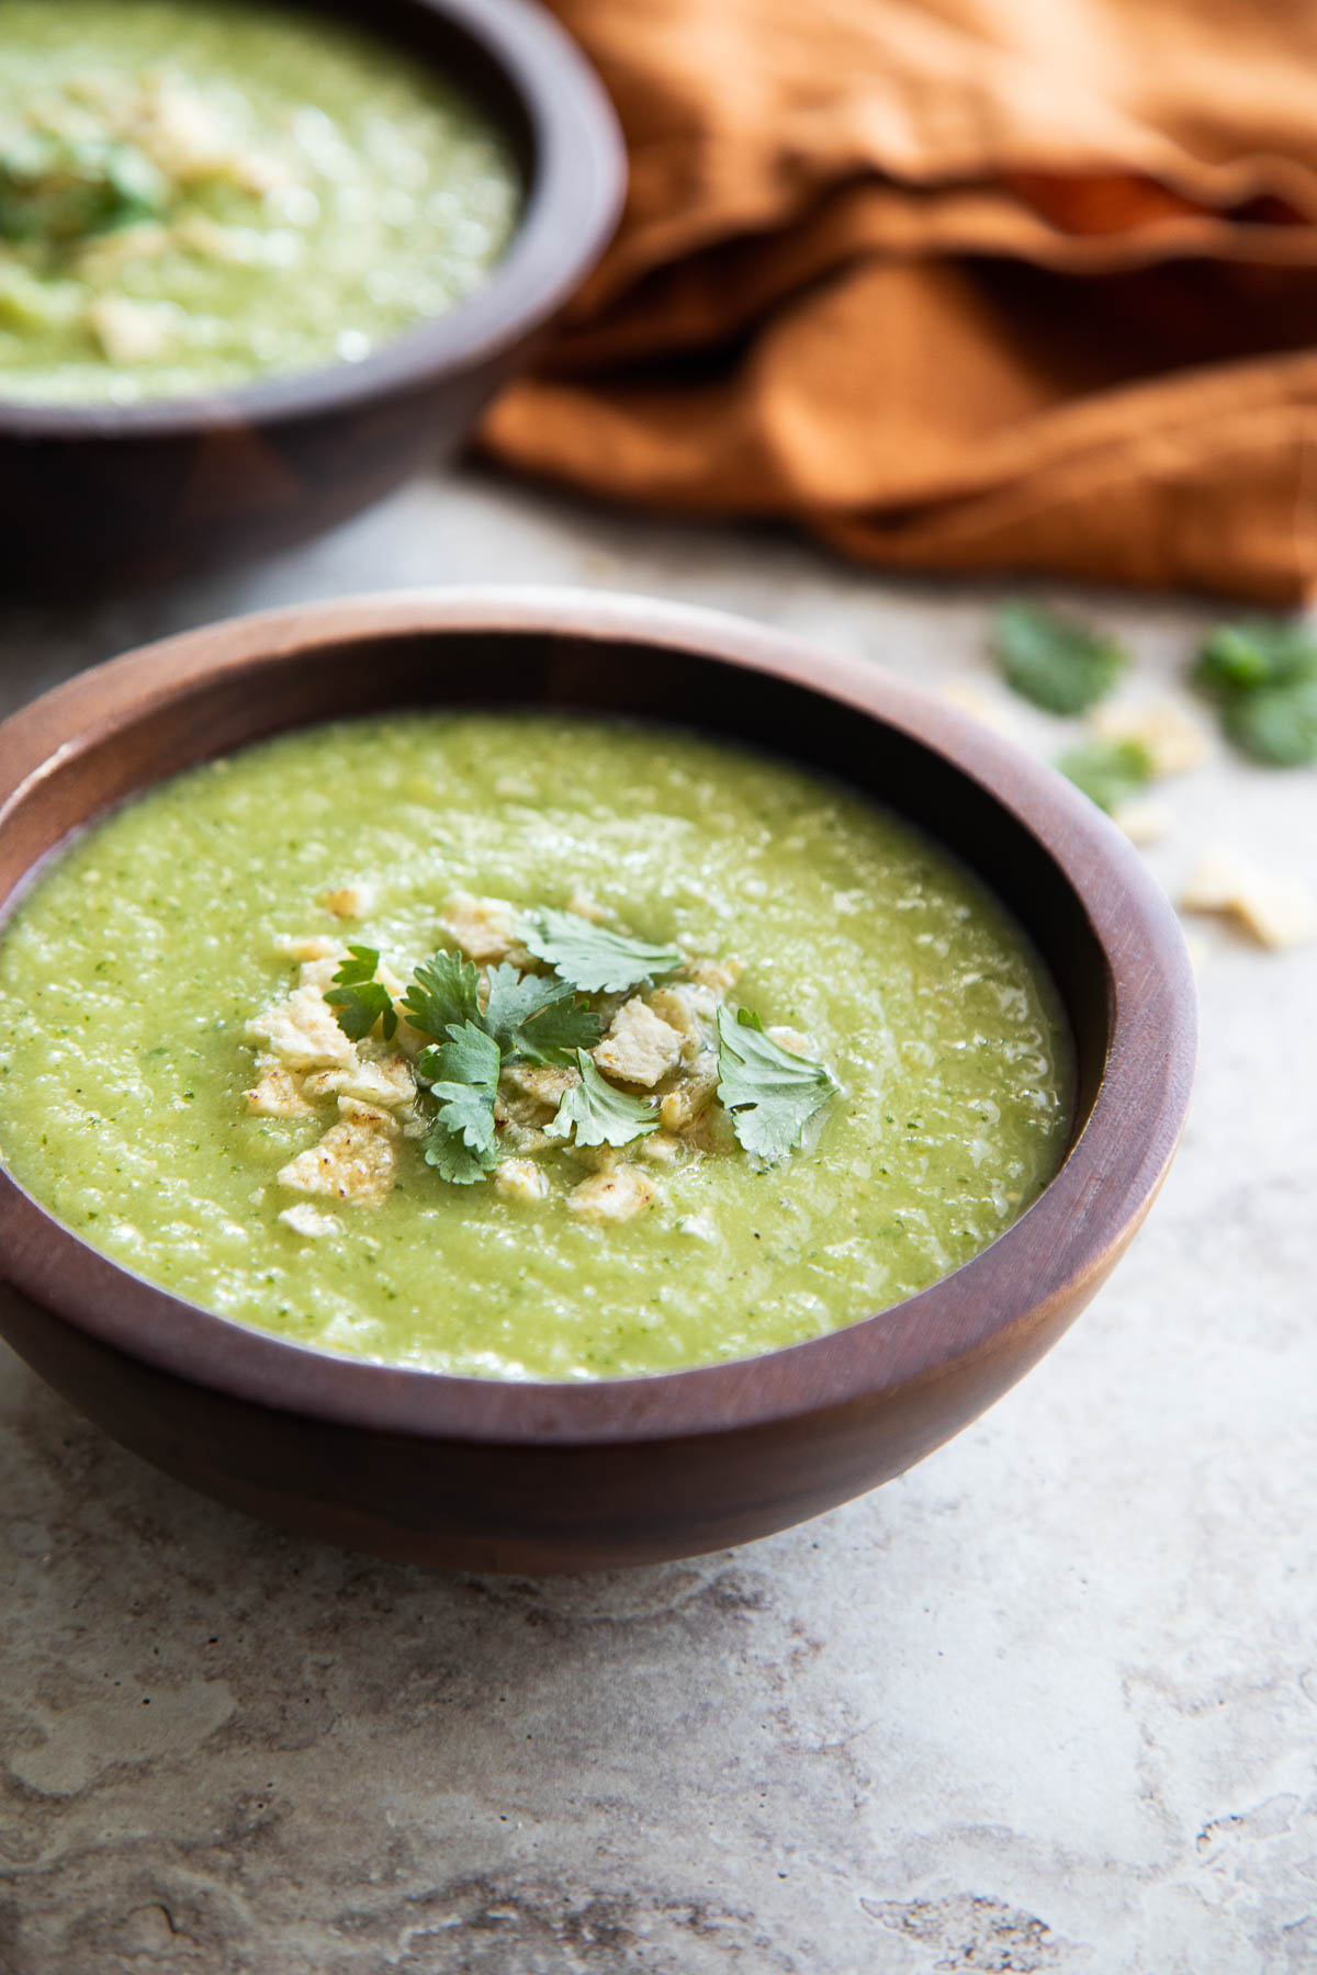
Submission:
<svg viewBox="0 0 1317 1975">
<path fill-rule="evenodd" d="M 1317 628 L 1285 618 L 1218 624 L 1193 683 L 1238 749 L 1274 768 L 1317 760 Z"/>
</svg>

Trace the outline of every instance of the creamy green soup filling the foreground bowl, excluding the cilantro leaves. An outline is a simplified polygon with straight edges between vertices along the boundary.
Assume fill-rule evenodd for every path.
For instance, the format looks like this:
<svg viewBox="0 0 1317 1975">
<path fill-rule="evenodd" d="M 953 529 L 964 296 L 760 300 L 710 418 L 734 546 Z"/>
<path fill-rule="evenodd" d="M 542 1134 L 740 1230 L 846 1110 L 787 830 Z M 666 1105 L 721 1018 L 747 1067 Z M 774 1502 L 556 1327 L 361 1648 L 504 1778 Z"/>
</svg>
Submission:
<svg viewBox="0 0 1317 1975">
<path fill-rule="evenodd" d="M 482 995 L 507 952 L 543 974 L 517 946 L 541 907 L 675 950 L 665 980 L 596 997 L 596 1061 L 654 1128 L 553 1138 L 579 1074 L 507 1070 L 498 1163 L 448 1183 L 417 1136 L 419 1039 L 353 1057 L 318 997 L 348 944 L 391 995 L 436 948 L 478 962 Z M 715 1003 L 835 1078 L 778 1163 L 711 1092 Z M 296 1055 L 308 1007 L 320 1066 Z M 1054 989 L 975 879 L 853 792 L 667 729 L 282 737 L 93 828 L 0 936 L 0 1147 L 24 1187 L 207 1309 L 454 1373 L 667 1371 L 891 1305 L 1029 1207 L 1068 1104 Z M 340 1142 L 365 1161 L 334 1165 Z"/>
</svg>

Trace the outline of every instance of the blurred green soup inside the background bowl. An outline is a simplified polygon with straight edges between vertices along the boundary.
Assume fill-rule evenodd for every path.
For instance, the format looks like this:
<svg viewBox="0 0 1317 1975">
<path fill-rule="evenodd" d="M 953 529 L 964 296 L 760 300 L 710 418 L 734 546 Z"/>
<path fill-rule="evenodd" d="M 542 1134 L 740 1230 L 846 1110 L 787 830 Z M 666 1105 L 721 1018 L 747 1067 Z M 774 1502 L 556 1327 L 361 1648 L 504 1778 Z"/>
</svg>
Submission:
<svg viewBox="0 0 1317 1975">
<path fill-rule="evenodd" d="M 385 40 L 239 0 L 0 0 L 0 395 L 357 361 L 460 302 L 517 170 Z"/>
</svg>

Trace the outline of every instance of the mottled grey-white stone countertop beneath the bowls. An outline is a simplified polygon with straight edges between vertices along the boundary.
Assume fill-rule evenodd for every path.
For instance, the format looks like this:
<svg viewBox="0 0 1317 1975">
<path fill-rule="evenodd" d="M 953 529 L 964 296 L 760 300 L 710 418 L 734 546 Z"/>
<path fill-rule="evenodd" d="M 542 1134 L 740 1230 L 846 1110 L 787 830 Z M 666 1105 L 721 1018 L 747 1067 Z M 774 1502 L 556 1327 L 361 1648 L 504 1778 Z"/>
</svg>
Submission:
<svg viewBox="0 0 1317 1975">
<path fill-rule="evenodd" d="M 454 581 L 650 591 L 944 685 L 1021 737 L 991 587 L 474 474 L 261 569 L 0 612 L 0 709 L 188 624 Z M 1082 598 L 1179 675 L 1201 606 Z M 1151 853 L 1317 881 L 1317 780 L 1218 750 Z M 1317 1969 L 1317 946 L 1201 932 L 1161 1203 L 977 1426 L 766 1542 L 446 1578 L 292 1540 L 0 1361 L 4 1975 Z M 2 1347 L 0 1347 L 2 1349 Z"/>
</svg>

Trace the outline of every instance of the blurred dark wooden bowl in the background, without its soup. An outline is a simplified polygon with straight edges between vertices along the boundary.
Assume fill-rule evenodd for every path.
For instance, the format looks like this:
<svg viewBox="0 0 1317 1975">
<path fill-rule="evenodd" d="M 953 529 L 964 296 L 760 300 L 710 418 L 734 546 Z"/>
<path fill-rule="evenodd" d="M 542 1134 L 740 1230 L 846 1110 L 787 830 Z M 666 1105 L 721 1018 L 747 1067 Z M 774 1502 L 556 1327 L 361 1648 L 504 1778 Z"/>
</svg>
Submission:
<svg viewBox="0 0 1317 1975">
<path fill-rule="evenodd" d="M 602 253 L 622 207 L 618 122 L 535 0 L 280 0 L 344 14 L 460 83 L 509 136 L 517 233 L 472 296 L 361 363 L 142 405 L 0 395 L 0 583 L 97 591 L 302 541 L 432 466 Z"/>
</svg>

